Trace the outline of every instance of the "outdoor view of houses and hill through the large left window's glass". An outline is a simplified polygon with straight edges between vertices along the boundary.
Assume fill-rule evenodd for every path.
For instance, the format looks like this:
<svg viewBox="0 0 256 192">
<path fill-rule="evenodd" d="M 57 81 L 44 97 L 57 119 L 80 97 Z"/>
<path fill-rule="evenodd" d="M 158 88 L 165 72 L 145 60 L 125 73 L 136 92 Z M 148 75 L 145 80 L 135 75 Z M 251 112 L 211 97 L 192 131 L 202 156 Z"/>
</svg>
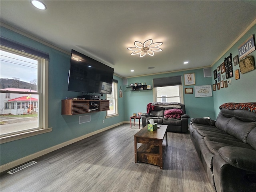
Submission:
<svg viewBox="0 0 256 192">
<path fill-rule="evenodd" d="M 0 68 L 1 136 L 38 127 L 37 60 L 0 50 Z"/>
</svg>

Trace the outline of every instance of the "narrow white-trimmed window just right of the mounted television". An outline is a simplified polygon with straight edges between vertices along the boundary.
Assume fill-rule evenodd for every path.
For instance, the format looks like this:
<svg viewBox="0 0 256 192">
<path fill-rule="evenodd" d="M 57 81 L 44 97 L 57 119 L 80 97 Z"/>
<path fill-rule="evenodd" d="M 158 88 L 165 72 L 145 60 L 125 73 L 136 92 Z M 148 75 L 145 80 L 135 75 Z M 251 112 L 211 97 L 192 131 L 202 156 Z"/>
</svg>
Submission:
<svg viewBox="0 0 256 192">
<path fill-rule="evenodd" d="M 109 109 L 107 116 L 113 116 L 118 114 L 118 103 L 117 103 L 117 82 L 112 84 L 111 94 L 107 94 L 107 100 L 109 100 Z"/>
</svg>

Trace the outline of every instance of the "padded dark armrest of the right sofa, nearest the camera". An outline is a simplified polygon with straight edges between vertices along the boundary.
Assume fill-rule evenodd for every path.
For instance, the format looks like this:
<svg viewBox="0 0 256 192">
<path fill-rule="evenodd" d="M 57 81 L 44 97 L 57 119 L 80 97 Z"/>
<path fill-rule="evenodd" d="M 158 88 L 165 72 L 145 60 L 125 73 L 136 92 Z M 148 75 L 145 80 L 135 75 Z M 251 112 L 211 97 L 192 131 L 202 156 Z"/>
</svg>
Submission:
<svg viewBox="0 0 256 192">
<path fill-rule="evenodd" d="M 228 164 L 239 169 L 256 172 L 256 150 L 241 147 L 222 147 L 218 152 Z"/>
</svg>

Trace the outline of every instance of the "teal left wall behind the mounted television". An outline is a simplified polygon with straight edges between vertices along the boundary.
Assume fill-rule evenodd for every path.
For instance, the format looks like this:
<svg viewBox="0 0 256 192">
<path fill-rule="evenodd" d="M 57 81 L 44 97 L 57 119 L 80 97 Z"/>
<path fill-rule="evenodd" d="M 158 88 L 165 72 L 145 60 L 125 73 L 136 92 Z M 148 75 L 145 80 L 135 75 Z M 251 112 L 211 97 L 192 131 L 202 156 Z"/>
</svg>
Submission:
<svg viewBox="0 0 256 192">
<path fill-rule="evenodd" d="M 49 127 L 52 127 L 52 132 L 1 144 L 1 165 L 124 121 L 122 98 L 118 98 L 120 115 L 113 118 L 105 119 L 106 111 L 96 112 L 90 114 L 91 122 L 79 124 L 80 115 L 61 115 L 61 100 L 81 95 L 78 92 L 67 91 L 70 55 L 2 26 L 1 36 L 49 54 L 48 123 Z M 122 78 L 118 76 L 114 78 L 118 80 L 118 87 L 120 87 L 123 84 Z M 104 124 L 102 120 L 105 121 Z"/>
</svg>

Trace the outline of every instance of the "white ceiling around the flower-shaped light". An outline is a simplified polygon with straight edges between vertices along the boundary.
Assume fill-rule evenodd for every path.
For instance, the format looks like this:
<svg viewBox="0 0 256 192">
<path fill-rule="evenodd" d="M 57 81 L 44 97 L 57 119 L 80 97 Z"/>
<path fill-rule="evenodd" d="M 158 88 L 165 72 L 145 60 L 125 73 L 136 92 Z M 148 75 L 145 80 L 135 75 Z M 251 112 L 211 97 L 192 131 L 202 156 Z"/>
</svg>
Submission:
<svg viewBox="0 0 256 192">
<path fill-rule="evenodd" d="M 90 56 L 121 77 L 211 66 L 256 19 L 256 1 L 42 2 L 46 11 L 30 1 L 1 0 L 1 22 Z M 164 42 L 162 52 L 130 55 L 134 41 L 150 38 Z"/>
</svg>

